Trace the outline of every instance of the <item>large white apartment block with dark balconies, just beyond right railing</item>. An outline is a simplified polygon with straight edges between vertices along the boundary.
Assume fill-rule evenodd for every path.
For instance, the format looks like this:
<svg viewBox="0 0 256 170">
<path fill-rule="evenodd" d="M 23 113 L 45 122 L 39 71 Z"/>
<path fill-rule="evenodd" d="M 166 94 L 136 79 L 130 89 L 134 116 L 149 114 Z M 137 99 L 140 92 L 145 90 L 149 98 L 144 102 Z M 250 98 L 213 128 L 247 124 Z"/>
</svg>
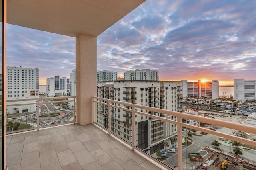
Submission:
<svg viewBox="0 0 256 170">
<path fill-rule="evenodd" d="M 97 83 L 98 97 L 171 111 L 178 111 L 179 86 L 180 82 L 175 81 L 123 80 Z M 132 109 L 129 106 L 120 105 L 120 107 Z M 140 111 L 176 120 L 175 116 L 144 109 Z M 110 127 L 111 131 L 127 142 L 132 142 L 132 114 L 122 109 L 112 109 L 111 114 L 113 119 Z M 173 136 L 176 137 L 177 128 L 171 123 L 150 119 L 139 114 L 137 114 L 135 120 L 138 129 L 136 143 L 140 149 L 148 150 L 151 154 L 154 150 L 163 148 L 163 140 Z M 98 104 L 97 122 L 99 125 L 108 128 L 107 104 Z"/>
</svg>

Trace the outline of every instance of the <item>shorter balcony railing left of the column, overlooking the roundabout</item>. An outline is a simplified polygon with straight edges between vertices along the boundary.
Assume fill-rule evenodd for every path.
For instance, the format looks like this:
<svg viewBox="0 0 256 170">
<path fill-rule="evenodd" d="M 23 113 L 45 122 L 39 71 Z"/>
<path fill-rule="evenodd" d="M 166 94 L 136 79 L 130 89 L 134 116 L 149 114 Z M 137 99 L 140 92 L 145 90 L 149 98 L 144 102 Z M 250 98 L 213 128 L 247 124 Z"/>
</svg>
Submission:
<svg viewBox="0 0 256 170">
<path fill-rule="evenodd" d="M 7 134 L 75 123 L 75 96 L 7 100 Z"/>
</svg>

